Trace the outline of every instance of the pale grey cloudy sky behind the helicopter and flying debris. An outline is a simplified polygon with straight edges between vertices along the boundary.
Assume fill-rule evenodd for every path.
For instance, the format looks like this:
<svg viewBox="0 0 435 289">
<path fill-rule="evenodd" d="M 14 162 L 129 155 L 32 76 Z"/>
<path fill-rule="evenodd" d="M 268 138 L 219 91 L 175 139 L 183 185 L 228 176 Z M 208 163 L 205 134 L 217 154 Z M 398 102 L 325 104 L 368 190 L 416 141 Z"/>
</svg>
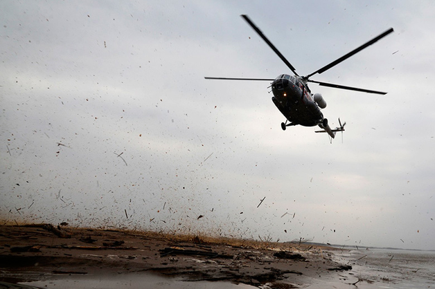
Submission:
<svg viewBox="0 0 435 289">
<path fill-rule="evenodd" d="M 1 1 L 0 219 L 435 250 L 433 1 Z M 269 82 L 312 80 L 330 142 Z M 263 202 L 261 202 L 263 200 Z"/>
</svg>

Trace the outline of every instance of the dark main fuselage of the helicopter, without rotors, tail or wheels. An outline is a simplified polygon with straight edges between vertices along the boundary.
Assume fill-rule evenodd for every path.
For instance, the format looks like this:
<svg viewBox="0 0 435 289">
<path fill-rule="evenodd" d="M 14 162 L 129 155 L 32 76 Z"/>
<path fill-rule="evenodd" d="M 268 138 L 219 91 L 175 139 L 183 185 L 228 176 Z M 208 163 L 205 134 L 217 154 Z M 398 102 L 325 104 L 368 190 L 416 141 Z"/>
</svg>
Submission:
<svg viewBox="0 0 435 289">
<path fill-rule="evenodd" d="M 301 80 L 301 77 L 282 74 L 272 82 L 272 101 L 285 118 L 290 121 L 288 125 L 302 125 L 314 127 L 323 122 L 323 113 L 314 100 L 310 88 Z M 321 98 L 321 96 L 319 95 Z M 321 99 L 323 101 L 323 99 Z M 322 105 L 326 107 L 326 102 Z"/>
</svg>

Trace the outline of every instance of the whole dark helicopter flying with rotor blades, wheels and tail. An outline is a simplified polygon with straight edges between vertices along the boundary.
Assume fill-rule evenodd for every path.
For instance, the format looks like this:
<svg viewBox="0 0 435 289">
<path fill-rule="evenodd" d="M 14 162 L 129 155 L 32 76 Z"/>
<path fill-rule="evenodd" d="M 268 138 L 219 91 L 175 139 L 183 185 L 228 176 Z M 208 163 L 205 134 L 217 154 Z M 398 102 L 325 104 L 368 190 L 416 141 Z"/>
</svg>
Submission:
<svg viewBox="0 0 435 289">
<path fill-rule="evenodd" d="M 370 41 L 367 41 L 362 46 L 359 46 L 358 48 L 355 48 L 354 50 L 350 51 L 350 53 L 347 53 L 346 55 L 336 59 L 335 61 L 331 62 L 330 64 L 327 64 L 326 66 L 323 66 L 322 68 L 318 69 L 317 71 L 314 71 L 313 73 L 310 73 L 305 76 L 301 76 L 298 73 L 296 73 L 296 69 L 288 62 L 287 59 L 278 51 L 278 49 L 272 44 L 269 39 L 261 32 L 261 30 L 254 24 L 254 22 L 249 19 L 247 15 L 240 15 L 245 21 L 247 21 L 247 24 L 253 28 L 257 34 L 266 42 L 266 44 L 274 50 L 274 53 L 278 55 L 278 57 L 287 65 L 288 68 L 292 71 L 294 75 L 288 75 L 288 74 L 281 74 L 278 75 L 275 79 L 269 79 L 269 78 L 232 78 L 232 77 L 204 77 L 206 80 L 254 80 L 254 81 L 270 81 L 272 82 L 272 102 L 274 102 L 275 106 L 278 108 L 279 111 L 285 116 L 285 122 L 281 123 L 281 128 L 283 131 L 287 127 L 295 126 L 295 125 L 301 125 L 303 127 L 315 127 L 319 126 L 321 131 L 316 131 L 317 133 L 328 133 L 330 138 L 335 138 L 335 133 L 337 131 L 344 131 L 344 126 L 346 125 L 346 122 L 341 124 L 341 121 L 339 120 L 339 127 L 336 127 L 335 129 L 331 129 L 328 124 L 328 119 L 323 117 L 323 113 L 321 113 L 321 109 L 326 108 L 326 101 L 323 99 L 321 93 L 312 93 L 310 91 L 310 88 L 308 88 L 308 82 L 312 82 L 315 84 L 319 84 L 320 86 L 328 86 L 332 88 L 340 88 L 340 89 L 346 89 L 350 91 L 360 91 L 364 93 L 375 93 L 380 95 L 385 95 L 387 93 L 382 91 L 372 91 L 369 89 L 364 88 L 357 88 L 352 86 L 344 86 L 340 84 L 331 84 L 328 82 L 318 82 L 315 80 L 310 80 L 310 77 L 312 75 L 315 75 L 317 73 L 321 74 L 325 71 L 328 71 L 328 69 L 332 68 L 333 66 L 336 66 L 340 62 L 343 62 L 344 60 L 348 59 L 349 57 L 355 55 L 359 51 L 363 50 L 364 48 L 370 46 L 371 44 L 374 44 L 376 41 L 382 39 L 383 37 L 389 35 L 391 32 L 393 32 L 393 28 L 389 28 L 389 30 L 383 32 L 382 34 L 378 35 L 377 37 L 371 39 Z"/>
</svg>

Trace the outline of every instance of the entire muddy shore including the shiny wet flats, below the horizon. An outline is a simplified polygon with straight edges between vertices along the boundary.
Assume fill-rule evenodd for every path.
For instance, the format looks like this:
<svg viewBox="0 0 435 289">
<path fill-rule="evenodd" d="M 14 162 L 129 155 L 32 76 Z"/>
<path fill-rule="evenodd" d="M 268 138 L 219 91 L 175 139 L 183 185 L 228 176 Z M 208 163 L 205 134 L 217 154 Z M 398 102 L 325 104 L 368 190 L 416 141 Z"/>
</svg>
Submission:
<svg viewBox="0 0 435 289">
<path fill-rule="evenodd" d="M 434 260 L 425 251 L 0 225 L 2 288 L 423 289 L 435 281 Z"/>
</svg>

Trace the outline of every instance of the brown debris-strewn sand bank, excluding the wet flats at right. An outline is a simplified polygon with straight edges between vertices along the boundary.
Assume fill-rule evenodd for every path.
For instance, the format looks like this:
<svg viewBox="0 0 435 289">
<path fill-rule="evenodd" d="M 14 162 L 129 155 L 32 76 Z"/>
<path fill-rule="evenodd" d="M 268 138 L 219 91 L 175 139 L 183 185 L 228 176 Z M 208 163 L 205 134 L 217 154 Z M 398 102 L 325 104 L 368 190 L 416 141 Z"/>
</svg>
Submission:
<svg viewBox="0 0 435 289">
<path fill-rule="evenodd" d="M 0 226 L 0 281 L 159 274 L 260 288 L 358 281 L 334 248 L 52 225 Z M 263 286 L 263 287 L 262 287 Z M 1 286 L 0 286 L 1 287 Z M 147 288 L 147 287 L 143 287 Z M 338 287 L 341 288 L 341 287 Z"/>
</svg>

